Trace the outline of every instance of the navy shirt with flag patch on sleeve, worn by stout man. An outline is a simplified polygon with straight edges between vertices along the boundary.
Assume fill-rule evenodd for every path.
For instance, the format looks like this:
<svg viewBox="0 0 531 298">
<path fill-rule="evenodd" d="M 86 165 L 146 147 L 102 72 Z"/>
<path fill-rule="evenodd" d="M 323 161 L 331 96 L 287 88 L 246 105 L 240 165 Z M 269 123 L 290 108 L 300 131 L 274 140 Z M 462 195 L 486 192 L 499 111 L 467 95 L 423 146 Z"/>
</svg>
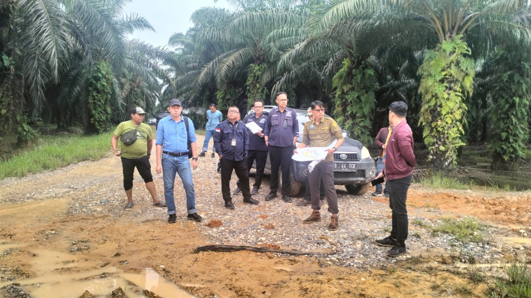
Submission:
<svg viewBox="0 0 531 298">
<path fill-rule="evenodd" d="M 236 139 L 236 146 L 232 146 L 233 138 Z M 216 152 L 222 155 L 222 159 L 241 161 L 245 159 L 249 151 L 249 134 L 247 127 L 242 121 L 232 124 L 228 119 L 216 126 L 214 131 L 214 146 Z"/>
</svg>

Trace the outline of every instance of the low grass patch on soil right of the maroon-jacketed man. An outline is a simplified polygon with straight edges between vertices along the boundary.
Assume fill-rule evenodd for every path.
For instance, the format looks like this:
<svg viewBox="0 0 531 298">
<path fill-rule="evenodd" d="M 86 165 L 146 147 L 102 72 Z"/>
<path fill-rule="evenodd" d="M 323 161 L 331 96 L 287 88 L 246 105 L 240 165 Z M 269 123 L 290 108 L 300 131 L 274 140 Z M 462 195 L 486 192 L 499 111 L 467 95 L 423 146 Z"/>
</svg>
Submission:
<svg viewBox="0 0 531 298">
<path fill-rule="evenodd" d="M 432 227 L 433 233 L 446 233 L 453 235 L 461 242 L 481 242 L 484 240 L 484 225 L 472 218 L 456 220 L 454 218 L 443 218 L 443 223 Z"/>
</svg>

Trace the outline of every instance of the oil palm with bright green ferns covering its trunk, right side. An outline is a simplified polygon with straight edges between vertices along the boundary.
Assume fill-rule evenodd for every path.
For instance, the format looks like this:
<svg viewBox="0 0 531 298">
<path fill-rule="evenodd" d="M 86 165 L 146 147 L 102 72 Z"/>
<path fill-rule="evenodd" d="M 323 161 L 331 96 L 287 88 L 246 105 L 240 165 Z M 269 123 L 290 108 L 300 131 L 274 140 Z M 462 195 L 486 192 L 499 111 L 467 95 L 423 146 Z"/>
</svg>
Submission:
<svg viewBox="0 0 531 298">
<path fill-rule="evenodd" d="M 419 123 L 424 126 L 432 168 L 451 170 L 457 148 L 463 145 L 464 98 L 473 92 L 473 58 L 507 42 L 531 41 L 527 2 L 331 0 L 318 7 L 310 29 L 319 33 L 353 19 L 358 20 L 358 29 L 378 29 L 374 37 L 381 45 L 408 42 L 412 50 L 431 50 L 419 68 L 423 96 Z"/>
</svg>

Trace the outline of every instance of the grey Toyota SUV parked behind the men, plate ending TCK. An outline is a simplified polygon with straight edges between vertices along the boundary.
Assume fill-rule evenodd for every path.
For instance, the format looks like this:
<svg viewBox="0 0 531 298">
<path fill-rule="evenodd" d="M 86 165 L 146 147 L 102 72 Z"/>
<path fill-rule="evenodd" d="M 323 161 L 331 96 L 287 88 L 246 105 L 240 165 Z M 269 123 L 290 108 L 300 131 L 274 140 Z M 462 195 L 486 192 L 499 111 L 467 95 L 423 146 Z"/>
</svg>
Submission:
<svg viewBox="0 0 531 298">
<path fill-rule="evenodd" d="M 269 112 L 276 108 L 276 106 L 264 106 L 263 113 L 268 115 Z M 302 143 L 302 132 L 304 124 L 309 120 L 306 116 L 306 109 L 294 109 L 297 112 L 297 120 L 299 125 L 299 136 L 297 138 L 297 146 Z M 253 110 L 247 112 L 251 115 Z M 374 168 L 374 161 L 369 153 L 369 150 L 359 141 L 349 138 L 348 132 L 344 132 L 345 142 L 337 148 L 334 152 L 334 184 L 344 185 L 349 194 L 361 196 L 365 194 L 371 187 L 371 180 L 376 176 L 376 169 Z M 290 166 L 289 181 L 290 189 L 289 196 L 298 195 L 301 186 L 308 179 L 308 164 L 310 162 L 298 162 L 292 160 Z M 253 165 L 253 168 L 255 165 Z M 267 163 L 265 164 L 266 173 L 271 173 L 271 162 L 269 155 Z M 282 175 L 279 174 L 279 188 L 282 186 Z"/>
</svg>

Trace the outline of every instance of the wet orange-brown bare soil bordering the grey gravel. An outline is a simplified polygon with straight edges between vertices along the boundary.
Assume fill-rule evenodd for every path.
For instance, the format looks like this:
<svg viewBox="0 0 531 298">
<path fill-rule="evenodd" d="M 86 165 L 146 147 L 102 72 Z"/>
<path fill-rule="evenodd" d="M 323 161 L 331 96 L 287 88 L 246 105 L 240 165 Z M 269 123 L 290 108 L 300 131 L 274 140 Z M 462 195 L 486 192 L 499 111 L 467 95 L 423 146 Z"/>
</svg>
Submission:
<svg viewBox="0 0 531 298">
<path fill-rule="evenodd" d="M 125 278 L 128 273 L 142 274 L 151 268 L 199 297 L 438 297 L 455 295 L 460 285 L 469 285 L 472 296 L 483 296 L 484 284 L 472 284 L 466 268 L 436 262 L 440 260 L 436 252 L 369 270 L 329 266 L 309 257 L 277 257 L 274 253 L 193 253 L 194 248 L 210 244 L 203 242 L 193 222 L 178 220 L 169 225 L 160 218 L 68 212 L 74 198 L 88 196 L 98 188 L 72 191 L 70 185 L 84 179 L 115 179 L 112 177 L 119 173 L 119 159 L 109 156 L 39 179 L 0 181 L 0 253 L 2 249 L 7 252 L 0 255 L 0 287 L 12 283 L 7 276 L 16 276 L 15 282 L 28 285 L 34 297 L 57 297 L 61 295 L 49 294 L 43 287 L 50 284 L 56 294 L 66 293 L 58 278 L 70 275 L 73 278 L 68 279 L 67 287 L 76 290 L 70 297 L 79 297 L 85 289 L 76 283 L 97 281 L 103 273 Z M 161 179 L 155 182 L 157 189 L 162 189 Z M 135 182 L 135 187 L 141 183 Z M 46 192 L 35 199 L 50 188 L 55 190 L 53 195 Z M 29 195 L 32 200 L 20 199 Z M 376 200 L 386 204 L 382 198 Z M 473 215 L 515 231 L 531 229 L 529 192 L 432 190 L 414 185 L 408 206 L 412 216 L 429 217 L 426 210 L 437 208 L 444 216 Z M 529 242 L 529 238 L 515 237 L 512 241 Z M 142 286 L 128 281 L 124 285 L 129 296 L 142 297 Z M 115 281 L 103 292 L 110 295 L 119 284 Z M 165 291 L 158 295 L 179 296 Z"/>
</svg>

